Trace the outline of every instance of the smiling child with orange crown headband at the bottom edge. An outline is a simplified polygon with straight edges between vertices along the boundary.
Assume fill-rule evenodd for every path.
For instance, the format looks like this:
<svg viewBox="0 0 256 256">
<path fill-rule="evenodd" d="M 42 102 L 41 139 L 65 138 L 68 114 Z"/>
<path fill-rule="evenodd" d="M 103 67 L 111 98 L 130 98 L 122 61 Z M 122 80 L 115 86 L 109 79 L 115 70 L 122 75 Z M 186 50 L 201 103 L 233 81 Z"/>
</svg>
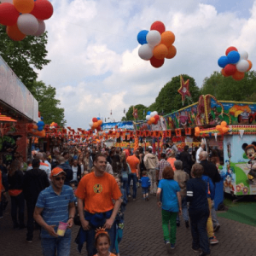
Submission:
<svg viewBox="0 0 256 256">
<path fill-rule="evenodd" d="M 108 236 L 108 232 L 104 229 L 96 230 L 95 246 L 98 253 L 94 256 L 116 256 L 109 252 L 110 238 Z"/>
</svg>

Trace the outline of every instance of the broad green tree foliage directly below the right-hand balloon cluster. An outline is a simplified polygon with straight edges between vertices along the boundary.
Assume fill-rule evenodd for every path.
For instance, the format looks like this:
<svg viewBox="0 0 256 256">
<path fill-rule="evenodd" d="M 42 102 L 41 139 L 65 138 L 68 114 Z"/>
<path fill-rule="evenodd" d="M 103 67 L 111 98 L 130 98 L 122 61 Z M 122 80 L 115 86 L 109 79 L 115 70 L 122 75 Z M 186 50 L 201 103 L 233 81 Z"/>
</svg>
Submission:
<svg viewBox="0 0 256 256">
<path fill-rule="evenodd" d="M 221 73 L 214 72 L 210 78 L 204 79 L 201 94 L 211 94 L 218 100 L 235 102 L 256 102 L 256 73 L 249 71 L 245 78 L 236 81 L 231 77 L 224 78 Z"/>
</svg>

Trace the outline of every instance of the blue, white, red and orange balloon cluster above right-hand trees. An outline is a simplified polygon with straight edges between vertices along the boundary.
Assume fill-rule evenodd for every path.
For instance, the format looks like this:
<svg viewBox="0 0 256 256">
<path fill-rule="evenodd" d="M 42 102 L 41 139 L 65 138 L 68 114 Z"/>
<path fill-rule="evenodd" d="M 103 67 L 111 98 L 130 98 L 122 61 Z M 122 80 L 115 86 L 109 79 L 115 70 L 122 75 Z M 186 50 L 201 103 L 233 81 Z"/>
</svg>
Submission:
<svg viewBox="0 0 256 256">
<path fill-rule="evenodd" d="M 236 47 L 230 46 L 226 49 L 226 55 L 218 59 L 218 66 L 223 68 L 221 73 L 224 77 L 232 76 L 233 79 L 239 81 L 253 67 L 253 63 L 247 59 L 247 51 L 241 50 L 238 52 Z"/>
</svg>

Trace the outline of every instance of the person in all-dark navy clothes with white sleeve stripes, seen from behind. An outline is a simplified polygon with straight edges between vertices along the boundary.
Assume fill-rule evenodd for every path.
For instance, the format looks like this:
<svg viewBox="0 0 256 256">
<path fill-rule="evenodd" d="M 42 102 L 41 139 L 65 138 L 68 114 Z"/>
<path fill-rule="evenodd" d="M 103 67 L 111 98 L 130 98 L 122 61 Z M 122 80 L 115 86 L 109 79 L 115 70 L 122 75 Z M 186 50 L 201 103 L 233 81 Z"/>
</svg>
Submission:
<svg viewBox="0 0 256 256">
<path fill-rule="evenodd" d="M 192 166 L 191 176 L 187 182 L 187 201 L 189 202 L 189 218 L 192 234 L 192 249 L 201 256 L 211 253 L 207 236 L 207 219 L 209 218 L 209 206 L 207 200 L 207 183 L 202 180 L 203 166 Z"/>
</svg>

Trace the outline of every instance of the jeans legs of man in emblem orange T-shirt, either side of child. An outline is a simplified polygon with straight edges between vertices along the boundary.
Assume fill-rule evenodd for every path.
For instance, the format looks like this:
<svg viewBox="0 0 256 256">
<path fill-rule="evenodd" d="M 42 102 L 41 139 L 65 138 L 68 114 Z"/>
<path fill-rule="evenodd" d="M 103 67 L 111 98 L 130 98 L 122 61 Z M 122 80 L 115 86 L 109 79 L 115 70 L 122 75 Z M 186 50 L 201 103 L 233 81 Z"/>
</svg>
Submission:
<svg viewBox="0 0 256 256">
<path fill-rule="evenodd" d="M 110 230 L 108 231 L 108 236 L 110 237 L 110 247 L 109 250 L 111 253 L 113 253 L 113 248 L 114 248 L 114 243 L 115 243 L 115 234 L 116 234 L 116 223 L 115 221 L 113 222 L 113 225 Z M 90 229 L 86 231 L 86 250 L 88 253 L 88 256 L 93 256 L 97 253 L 96 247 L 95 246 L 95 230 Z"/>
</svg>

